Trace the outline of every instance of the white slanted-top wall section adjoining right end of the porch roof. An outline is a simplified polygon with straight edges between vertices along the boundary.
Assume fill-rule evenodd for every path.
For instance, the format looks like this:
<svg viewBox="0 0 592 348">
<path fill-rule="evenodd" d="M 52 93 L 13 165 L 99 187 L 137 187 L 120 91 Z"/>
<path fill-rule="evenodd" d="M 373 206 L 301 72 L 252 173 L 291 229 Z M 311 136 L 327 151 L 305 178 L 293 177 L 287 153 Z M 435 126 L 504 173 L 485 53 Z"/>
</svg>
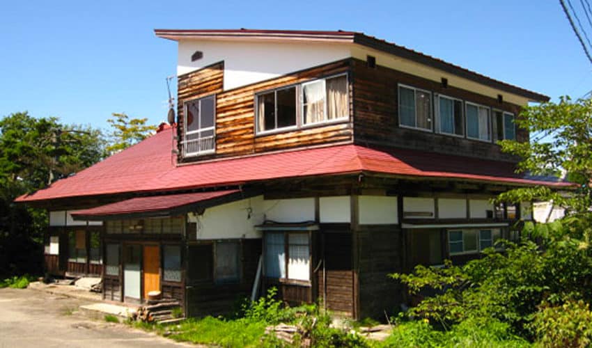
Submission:
<svg viewBox="0 0 592 348">
<path fill-rule="evenodd" d="M 262 207 L 263 196 L 257 196 L 210 207 L 189 221 L 197 223 L 197 239 L 260 238 L 255 226 L 263 223 Z"/>
</svg>

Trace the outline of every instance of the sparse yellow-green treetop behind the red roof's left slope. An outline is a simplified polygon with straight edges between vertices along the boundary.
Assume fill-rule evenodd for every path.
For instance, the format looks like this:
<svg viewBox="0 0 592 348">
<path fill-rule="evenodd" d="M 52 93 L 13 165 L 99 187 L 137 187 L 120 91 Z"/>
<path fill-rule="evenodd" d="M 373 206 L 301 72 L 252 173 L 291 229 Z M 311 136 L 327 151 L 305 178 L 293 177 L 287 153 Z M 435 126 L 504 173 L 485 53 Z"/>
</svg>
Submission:
<svg viewBox="0 0 592 348">
<path fill-rule="evenodd" d="M 107 151 L 114 154 L 148 138 L 157 127 L 146 125 L 147 121 L 148 118 L 130 118 L 125 113 L 112 113 L 107 120 L 112 127 L 109 133 L 111 144 L 107 146 Z"/>
</svg>

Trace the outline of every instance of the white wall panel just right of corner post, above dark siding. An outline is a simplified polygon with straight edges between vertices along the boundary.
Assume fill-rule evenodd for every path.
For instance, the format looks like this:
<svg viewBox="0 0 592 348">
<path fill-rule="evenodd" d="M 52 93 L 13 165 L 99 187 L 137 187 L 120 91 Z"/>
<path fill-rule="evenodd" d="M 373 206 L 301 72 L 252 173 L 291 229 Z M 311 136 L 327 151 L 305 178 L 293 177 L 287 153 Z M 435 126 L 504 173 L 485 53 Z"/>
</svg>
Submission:
<svg viewBox="0 0 592 348">
<path fill-rule="evenodd" d="M 358 214 L 361 225 L 398 223 L 396 196 L 359 196 Z"/>
</svg>

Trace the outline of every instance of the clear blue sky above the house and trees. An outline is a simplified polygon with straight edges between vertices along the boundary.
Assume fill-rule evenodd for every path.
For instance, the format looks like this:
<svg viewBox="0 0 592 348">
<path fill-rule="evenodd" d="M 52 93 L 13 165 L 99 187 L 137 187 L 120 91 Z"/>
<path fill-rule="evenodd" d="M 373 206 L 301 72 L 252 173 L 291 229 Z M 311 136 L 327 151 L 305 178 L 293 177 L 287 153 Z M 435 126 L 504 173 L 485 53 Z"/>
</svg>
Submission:
<svg viewBox="0 0 592 348">
<path fill-rule="evenodd" d="M 155 28 L 362 31 L 553 100 L 592 90 L 592 65 L 554 0 L 6 1 L 0 117 L 26 110 L 94 127 L 113 112 L 165 120 L 177 51 Z"/>
</svg>

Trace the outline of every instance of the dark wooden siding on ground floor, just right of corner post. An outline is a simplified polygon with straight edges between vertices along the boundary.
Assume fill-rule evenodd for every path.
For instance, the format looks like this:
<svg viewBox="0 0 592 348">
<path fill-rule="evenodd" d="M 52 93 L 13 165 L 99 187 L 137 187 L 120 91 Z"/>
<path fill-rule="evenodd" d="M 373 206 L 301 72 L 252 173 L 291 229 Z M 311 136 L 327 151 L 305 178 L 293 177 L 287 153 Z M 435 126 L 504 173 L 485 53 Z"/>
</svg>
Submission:
<svg viewBox="0 0 592 348">
<path fill-rule="evenodd" d="M 403 287 L 387 274 L 403 271 L 402 239 L 398 225 L 361 226 L 359 248 L 359 317 L 384 319 L 403 303 Z"/>
</svg>

